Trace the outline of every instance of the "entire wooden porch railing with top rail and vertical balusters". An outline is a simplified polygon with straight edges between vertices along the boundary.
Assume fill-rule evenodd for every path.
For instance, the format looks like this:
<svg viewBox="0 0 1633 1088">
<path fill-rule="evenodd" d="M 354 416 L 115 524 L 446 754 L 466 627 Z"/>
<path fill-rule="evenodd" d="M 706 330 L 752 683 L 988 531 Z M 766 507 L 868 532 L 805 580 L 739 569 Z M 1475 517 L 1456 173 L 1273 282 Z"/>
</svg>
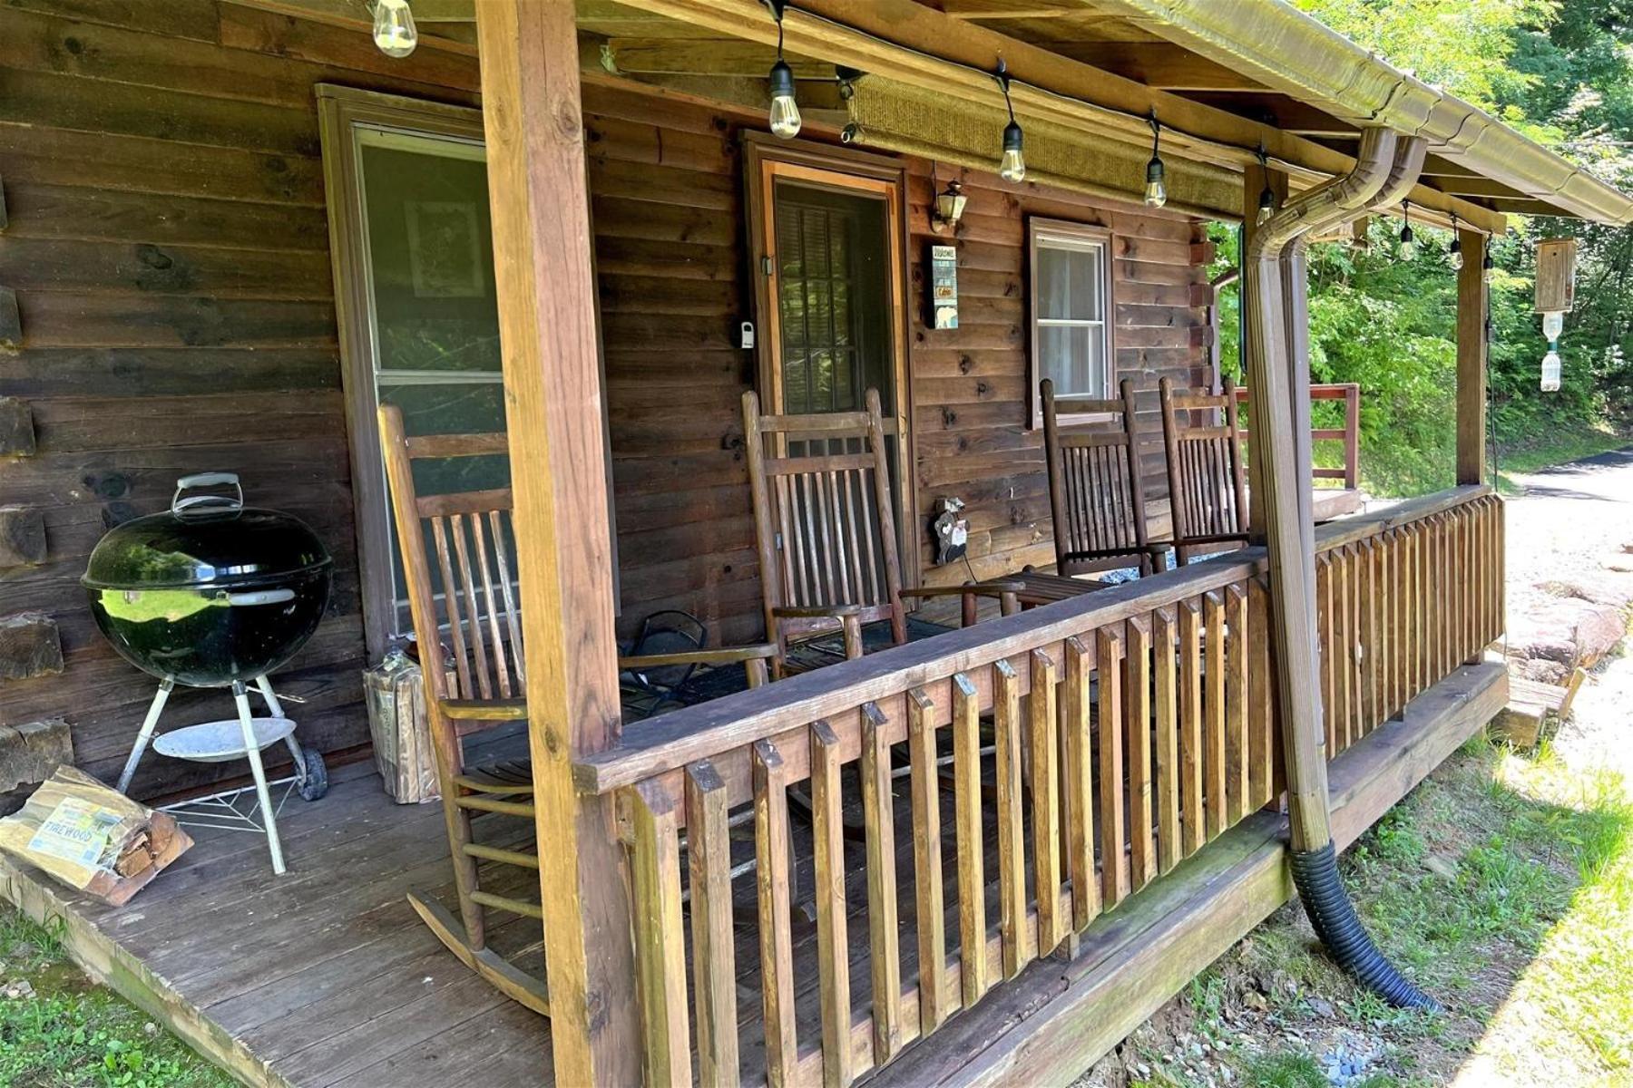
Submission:
<svg viewBox="0 0 1633 1088">
<path fill-rule="evenodd" d="M 1496 638 L 1501 506 L 1462 488 L 1326 525 L 1318 553 L 1337 752 Z M 694 1050 L 702 1083 L 849 1083 L 1270 804 L 1262 556 L 681 710 L 580 763 L 580 788 L 619 791 L 625 819 L 648 1083 L 689 1081 Z M 738 891 L 753 881 L 758 940 L 738 946 L 730 827 L 750 806 L 736 869 L 754 871 Z M 813 941 L 795 940 L 797 905 Z M 740 1006 L 754 987 L 759 1008 Z M 756 1021 L 763 1067 L 738 1042 Z"/>
</svg>

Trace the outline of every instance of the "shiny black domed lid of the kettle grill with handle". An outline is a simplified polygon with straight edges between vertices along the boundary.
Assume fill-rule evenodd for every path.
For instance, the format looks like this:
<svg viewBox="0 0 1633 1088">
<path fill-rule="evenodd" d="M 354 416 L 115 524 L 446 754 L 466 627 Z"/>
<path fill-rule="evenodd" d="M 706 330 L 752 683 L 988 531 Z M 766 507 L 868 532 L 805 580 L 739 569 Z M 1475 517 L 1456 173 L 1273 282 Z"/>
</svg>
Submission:
<svg viewBox="0 0 1633 1088">
<path fill-rule="evenodd" d="M 232 473 L 199 473 L 176 481 L 163 514 L 109 530 L 91 551 L 83 586 L 91 589 L 235 587 L 276 582 L 330 564 L 328 551 L 305 524 L 243 506 L 237 496 L 185 491 L 230 484 Z"/>
</svg>

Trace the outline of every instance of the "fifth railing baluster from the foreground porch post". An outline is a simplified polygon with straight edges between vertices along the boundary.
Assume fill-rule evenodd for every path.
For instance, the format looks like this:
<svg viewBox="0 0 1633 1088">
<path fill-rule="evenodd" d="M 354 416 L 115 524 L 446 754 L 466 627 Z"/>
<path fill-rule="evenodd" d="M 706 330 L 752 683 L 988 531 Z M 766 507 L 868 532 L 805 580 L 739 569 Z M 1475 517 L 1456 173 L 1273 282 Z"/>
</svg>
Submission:
<svg viewBox="0 0 1633 1088">
<path fill-rule="evenodd" d="M 862 824 L 867 832 L 867 944 L 874 972 L 875 1065 L 883 1065 L 901 1049 L 897 811 L 890 793 L 887 724 L 877 703 L 862 705 Z"/>
</svg>

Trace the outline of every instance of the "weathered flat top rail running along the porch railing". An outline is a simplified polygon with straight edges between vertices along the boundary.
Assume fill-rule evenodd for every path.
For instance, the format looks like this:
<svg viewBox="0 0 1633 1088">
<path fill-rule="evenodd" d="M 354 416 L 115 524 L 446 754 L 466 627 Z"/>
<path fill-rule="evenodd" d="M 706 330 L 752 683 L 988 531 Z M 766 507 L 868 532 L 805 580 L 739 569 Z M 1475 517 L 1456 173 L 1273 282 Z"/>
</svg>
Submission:
<svg viewBox="0 0 1633 1088">
<path fill-rule="evenodd" d="M 1344 546 L 1491 494 L 1484 484 L 1408 499 L 1383 512 L 1316 529 L 1316 550 Z M 585 793 L 606 793 L 787 729 L 854 711 L 947 677 L 1012 659 L 1097 626 L 1220 589 L 1264 569 L 1264 548 L 1243 548 L 1151 577 L 986 620 L 936 638 L 843 661 L 697 706 L 635 723 L 622 744 L 573 767 Z"/>
</svg>

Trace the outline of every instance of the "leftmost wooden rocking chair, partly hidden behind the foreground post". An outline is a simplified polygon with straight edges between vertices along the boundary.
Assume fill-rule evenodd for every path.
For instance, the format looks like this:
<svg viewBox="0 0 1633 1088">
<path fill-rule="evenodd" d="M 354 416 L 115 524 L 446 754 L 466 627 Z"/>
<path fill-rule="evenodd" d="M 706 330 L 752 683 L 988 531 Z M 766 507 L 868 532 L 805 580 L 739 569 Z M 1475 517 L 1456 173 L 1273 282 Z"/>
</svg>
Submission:
<svg viewBox="0 0 1633 1088">
<path fill-rule="evenodd" d="M 539 855 L 478 843 L 472 834 L 472 817 L 483 812 L 516 817 L 532 829 L 532 767 L 526 759 L 483 767 L 467 765 L 465 759 L 469 737 L 527 718 L 511 493 L 498 488 L 421 496 L 413 473 L 415 460 L 498 457 L 509 449 L 503 434 L 408 437 L 395 406 L 380 406 L 379 421 L 461 917 L 456 920 L 441 904 L 416 892 L 408 894 L 408 902 L 467 967 L 549 1016 L 544 980 L 490 948 L 487 920 L 488 909 L 539 920 L 544 912 L 536 900 L 488 891 L 478 873 L 478 863 L 537 873 Z M 434 574 L 429 550 L 436 551 Z M 443 651 L 452 659 L 451 669 L 436 667 Z M 758 687 L 766 682 L 774 654 L 774 646 L 681 651 L 621 657 L 619 669 L 733 662 L 746 670 L 748 685 Z"/>
</svg>

